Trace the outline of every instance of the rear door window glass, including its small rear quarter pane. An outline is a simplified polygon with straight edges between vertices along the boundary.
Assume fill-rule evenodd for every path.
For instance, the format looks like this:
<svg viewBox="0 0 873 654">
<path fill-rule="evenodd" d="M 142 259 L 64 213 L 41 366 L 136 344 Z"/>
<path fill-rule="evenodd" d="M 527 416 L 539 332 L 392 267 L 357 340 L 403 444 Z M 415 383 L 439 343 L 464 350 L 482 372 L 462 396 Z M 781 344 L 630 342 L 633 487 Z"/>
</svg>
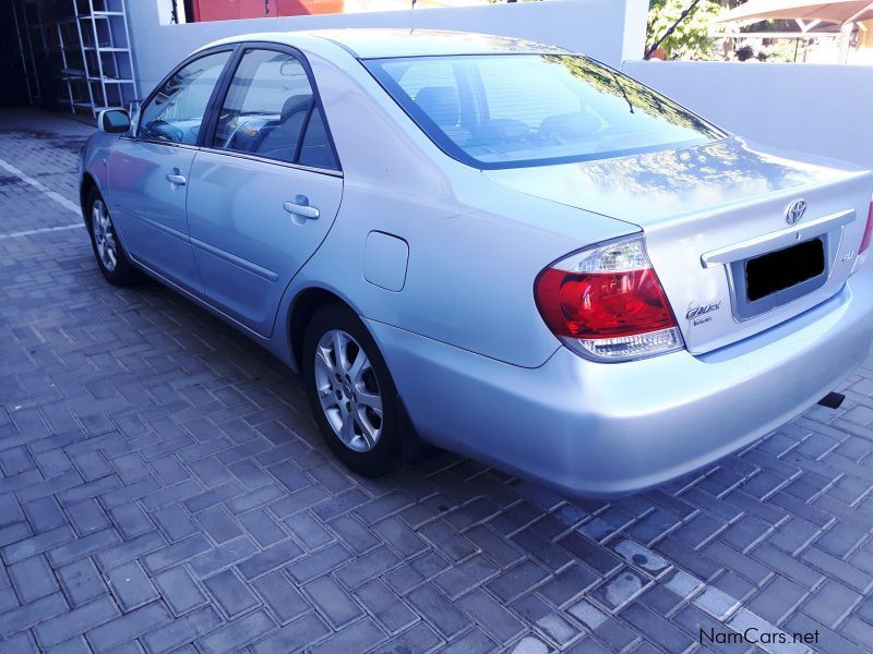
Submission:
<svg viewBox="0 0 873 654">
<path fill-rule="evenodd" d="M 337 168 L 306 69 L 296 57 L 275 50 L 243 55 L 212 146 L 289 164 Z"/>
</svg>

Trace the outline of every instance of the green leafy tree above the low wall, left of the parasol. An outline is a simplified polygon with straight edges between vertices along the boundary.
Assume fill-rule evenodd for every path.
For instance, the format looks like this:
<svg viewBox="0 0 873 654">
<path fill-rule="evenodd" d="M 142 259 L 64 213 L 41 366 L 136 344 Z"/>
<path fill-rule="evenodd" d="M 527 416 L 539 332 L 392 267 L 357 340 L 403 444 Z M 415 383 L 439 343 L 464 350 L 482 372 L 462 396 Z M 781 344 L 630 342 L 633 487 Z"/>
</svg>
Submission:
<svg viewBox="0 0 873 654">
<path fill-rule="evenodd" d="M 663 36 L 670 26 L 691 7 L 693 0 L 651 0 L 648 10 L 649 46 Z M 725 5 L 728 2 L 723 2 Z M 736 4 L 733 2 L 732 4 Z M 719 0 L 701 0 L 694 10 L 661 44 L 669 59 L 709 59 L 713 56 L 711 31 L 721 11 Z"/>
</svg>

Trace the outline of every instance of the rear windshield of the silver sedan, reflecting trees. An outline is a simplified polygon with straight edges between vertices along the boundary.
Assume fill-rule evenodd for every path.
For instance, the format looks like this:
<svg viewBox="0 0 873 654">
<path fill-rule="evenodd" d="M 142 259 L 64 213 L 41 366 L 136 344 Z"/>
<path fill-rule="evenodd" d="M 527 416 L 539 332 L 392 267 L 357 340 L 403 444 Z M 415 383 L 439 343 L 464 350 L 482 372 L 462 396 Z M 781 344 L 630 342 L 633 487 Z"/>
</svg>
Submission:
<svg viewBox="0 0 873 654">
<path fill-rule="evenodd" d="M 725 137 L 586 57 L 471 55 L 363 63 L 443 152 L 476 168 L 607 159 Z"/>
</svg>

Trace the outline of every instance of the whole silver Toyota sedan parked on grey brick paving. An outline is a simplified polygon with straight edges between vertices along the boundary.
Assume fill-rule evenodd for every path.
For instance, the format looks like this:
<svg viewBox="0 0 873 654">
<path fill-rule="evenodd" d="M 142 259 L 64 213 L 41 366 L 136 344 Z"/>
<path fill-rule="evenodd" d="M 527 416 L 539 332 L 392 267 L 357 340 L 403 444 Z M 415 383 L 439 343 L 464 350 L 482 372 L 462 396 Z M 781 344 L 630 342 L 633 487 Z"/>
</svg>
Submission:
<svg viewBox="0 0 873 654">
<path fill-rule="evenodd" d="M 82 158 L 97 264 L 299 371 L 366 475 L 432 444 L 575 495 L 691 473 L 873 339 L 873 175 L 584 56 L 463 33 L 240 36 Z"/>
</svg>

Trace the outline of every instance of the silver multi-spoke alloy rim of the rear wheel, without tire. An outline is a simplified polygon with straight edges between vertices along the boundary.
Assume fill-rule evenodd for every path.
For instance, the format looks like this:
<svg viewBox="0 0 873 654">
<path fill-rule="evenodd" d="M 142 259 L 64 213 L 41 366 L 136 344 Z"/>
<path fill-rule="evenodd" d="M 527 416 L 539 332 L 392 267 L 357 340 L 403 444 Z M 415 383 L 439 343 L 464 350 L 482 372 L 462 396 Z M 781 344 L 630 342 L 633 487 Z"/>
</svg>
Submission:
<svg viewBox="0 0 873 654">
<path fill-rule="evenodd" d="M 319 339 L 315 389 L 339 440 L 357 452 L 373 449 L 383 425 L 379 383 L 363 348 L 342 329 L 331 329 Z"/>
</svg>

